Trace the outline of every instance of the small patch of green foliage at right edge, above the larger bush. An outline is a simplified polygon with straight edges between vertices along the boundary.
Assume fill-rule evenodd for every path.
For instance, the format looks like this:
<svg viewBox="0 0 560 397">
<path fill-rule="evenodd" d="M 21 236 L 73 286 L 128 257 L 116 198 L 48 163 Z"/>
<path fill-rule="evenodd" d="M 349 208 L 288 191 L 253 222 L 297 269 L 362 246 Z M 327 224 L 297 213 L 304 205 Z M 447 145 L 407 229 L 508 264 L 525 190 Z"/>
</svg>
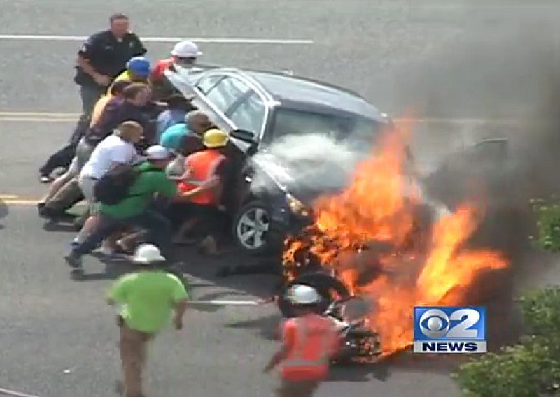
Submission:
<svg viewBox="0 0 560 397">
<path fill-rule="evenodd" d="M 547 203 L 531 200 L 533 212 L 537 217 L 537 238 L 533 238 L 536 247 L 552 252 L 560 252 L 560 203 L 556 198 Z"/>
</svg>

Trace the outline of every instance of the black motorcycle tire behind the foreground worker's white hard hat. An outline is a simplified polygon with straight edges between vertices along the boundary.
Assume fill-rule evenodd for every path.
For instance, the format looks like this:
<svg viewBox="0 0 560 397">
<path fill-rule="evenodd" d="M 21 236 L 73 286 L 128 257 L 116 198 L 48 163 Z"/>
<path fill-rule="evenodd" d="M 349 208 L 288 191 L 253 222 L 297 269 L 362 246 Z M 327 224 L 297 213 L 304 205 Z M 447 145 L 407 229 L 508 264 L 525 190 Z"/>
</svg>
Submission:
<svg viewBox="0 0 560 397">
<path fill-rule="evenodd" d="M 285 318 L 294 316 L 294 305 L 286 299 L 286 292 L 288 291 L 288 288 L 292 287 L 294 284 L 309 285 L 309 287 L 314 287 L 318 291 L 318 293 L 323 297 L 323 302 L 321 303 L 320 308 L 321 312 L 327 310 L 329 305 L 332 303 L 333 292 L 335 292 L 341 299 L 346 299 L 351 296 L 350 291 L 346 288 L 344 282 L 339 280 L 337 277 L 323 271 L 305 273 L 300 275 L 300 277 L 296 277 L 295 280 L 286 284 L 283 289 L 281 289 L 277 304 L 282 316 Z"/>
</svg>

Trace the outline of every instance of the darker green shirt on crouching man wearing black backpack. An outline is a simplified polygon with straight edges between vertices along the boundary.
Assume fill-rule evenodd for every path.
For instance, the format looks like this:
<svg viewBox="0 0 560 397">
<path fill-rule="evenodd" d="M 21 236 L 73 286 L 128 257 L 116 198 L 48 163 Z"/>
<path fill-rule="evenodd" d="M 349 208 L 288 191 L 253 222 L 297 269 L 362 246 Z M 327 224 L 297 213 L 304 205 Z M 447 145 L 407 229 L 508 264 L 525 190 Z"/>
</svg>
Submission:
<svg viewBox="0 0 560 397">
<path fill-rule="evenodd" d="M 153 166 L 148 161 L 138 167 L 141 173 L 130 187 L 130 197 L 115 205 L 102 203 L 99 212 L 118 219 L 130 218 L 144 212 L 156 193 L 169 198 L 177 195 L 177 185 L 167 179 L 165 170 L 149 171 Z"/>
</svg>

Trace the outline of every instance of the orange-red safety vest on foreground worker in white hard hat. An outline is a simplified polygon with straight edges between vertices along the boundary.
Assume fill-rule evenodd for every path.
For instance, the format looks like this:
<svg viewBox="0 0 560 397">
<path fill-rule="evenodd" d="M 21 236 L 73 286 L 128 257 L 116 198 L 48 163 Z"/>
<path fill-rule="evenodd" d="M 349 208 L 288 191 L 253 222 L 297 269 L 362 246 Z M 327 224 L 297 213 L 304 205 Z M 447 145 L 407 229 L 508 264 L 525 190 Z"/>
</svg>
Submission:
<svg viewBox="0 0 560 397">
<path fill-rule="evenodd" d="M 339 338 L 335 325 L 319 315 L 305 315 L 288 321 L 295 324 L 295 345 L 281 363 L 282 377 L 290 380 L 325 377 Z"/>
</svg>

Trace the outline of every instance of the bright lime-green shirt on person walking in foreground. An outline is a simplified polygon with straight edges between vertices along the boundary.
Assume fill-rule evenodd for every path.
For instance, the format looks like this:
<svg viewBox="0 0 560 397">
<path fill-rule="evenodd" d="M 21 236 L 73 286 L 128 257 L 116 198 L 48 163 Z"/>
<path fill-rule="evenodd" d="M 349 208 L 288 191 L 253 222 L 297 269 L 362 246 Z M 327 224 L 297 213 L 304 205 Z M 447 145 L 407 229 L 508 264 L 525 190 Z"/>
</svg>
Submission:
<svg viewBox="0 0 560 397">
<path fill-rule="evenodd" d="M 174 305 L 188 294 L 176 275 L 147 270 L 120 277 L 109 298 L 123 305 L 120 315 L 131 329 L 157 333 L 171 321 Z"/>
</svg>

